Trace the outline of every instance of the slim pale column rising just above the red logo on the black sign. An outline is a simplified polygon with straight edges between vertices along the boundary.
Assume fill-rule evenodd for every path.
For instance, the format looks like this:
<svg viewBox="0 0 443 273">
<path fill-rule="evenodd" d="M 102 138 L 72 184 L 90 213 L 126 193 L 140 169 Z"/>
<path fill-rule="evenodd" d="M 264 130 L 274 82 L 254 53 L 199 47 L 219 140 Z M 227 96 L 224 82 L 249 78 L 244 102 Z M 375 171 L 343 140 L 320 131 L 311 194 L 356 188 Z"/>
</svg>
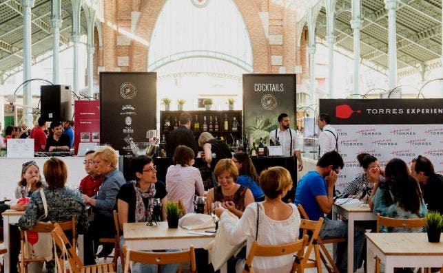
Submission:
<svg viewBox="0 0 443 273">
<path fill-rule="evenodd" d="M 353 30 L 353 52 L 354 52 L 354 74 L 352 94 L 360 94 L 360 29 L 361 20 L 361 2 L 352 0 L 352 20 L 351 28 Z"/>
</svg>

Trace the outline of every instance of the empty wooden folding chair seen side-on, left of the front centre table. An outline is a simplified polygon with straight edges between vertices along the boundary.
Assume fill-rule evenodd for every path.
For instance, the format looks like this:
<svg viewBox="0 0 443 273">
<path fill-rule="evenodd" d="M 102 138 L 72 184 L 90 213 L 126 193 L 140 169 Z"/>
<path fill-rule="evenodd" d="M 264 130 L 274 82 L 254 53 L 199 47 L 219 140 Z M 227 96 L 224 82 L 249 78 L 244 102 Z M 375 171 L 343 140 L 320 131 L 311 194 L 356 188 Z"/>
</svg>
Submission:
<svg viewBox="0 0 443 273">
<path fill-rule="evenodd" d="M 86 273 L 86 272 L 115 272 L 113 263 L 99 263 L 97 265 L 83 265 L 79 256 L 75 252 L 75 247 L 71 245 L 70 241 L 66 237 L 65 233 L 61 229 L 58 223 L 54 223 L 54 229 L 51 231 L 52 238 L 54 239 L 57 247 L 59 248 L 61 255 L 59 256 L 59 264 L 62 267 L 65 266 L 65 260 L 63 256 L 68 257 L 68 263 L 74 273 Z M 58 269 L 56 269 L 58 270 Z"/>
</svg>

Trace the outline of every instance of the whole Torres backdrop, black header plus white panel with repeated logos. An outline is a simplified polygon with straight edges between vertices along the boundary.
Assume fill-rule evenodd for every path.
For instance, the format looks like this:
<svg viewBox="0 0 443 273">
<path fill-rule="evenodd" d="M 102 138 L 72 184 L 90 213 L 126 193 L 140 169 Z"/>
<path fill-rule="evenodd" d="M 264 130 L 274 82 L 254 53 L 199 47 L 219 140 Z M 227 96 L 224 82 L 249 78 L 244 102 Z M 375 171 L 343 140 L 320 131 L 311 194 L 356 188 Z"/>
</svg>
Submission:
<svg viewBox="0 0 443 273">
<path fill-rule="evenodd" d="M 320 113 L 329 113 L 338 131 L 344 168 L 336 189 L 363 172 L 356 156 L 370 153 L 384 168 L 398 157 L 411 166 L 422 155 L 443 174 L 443 99 L 322 99 Z"/>
</svg>

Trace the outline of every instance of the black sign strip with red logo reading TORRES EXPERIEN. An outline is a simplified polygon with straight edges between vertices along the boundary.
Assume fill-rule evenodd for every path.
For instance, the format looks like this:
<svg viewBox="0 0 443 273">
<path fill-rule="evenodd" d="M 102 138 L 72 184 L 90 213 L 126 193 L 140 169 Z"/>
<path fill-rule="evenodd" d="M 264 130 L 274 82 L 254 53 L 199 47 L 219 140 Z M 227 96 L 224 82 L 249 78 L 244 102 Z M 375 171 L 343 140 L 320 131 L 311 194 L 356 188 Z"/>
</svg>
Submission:
<svg viewBox="0 0 443 273">
<path fill-rule="evenodd" d="M 442 124 L 443 99 L 320 99 L 331 124 Z"/>
</svg>

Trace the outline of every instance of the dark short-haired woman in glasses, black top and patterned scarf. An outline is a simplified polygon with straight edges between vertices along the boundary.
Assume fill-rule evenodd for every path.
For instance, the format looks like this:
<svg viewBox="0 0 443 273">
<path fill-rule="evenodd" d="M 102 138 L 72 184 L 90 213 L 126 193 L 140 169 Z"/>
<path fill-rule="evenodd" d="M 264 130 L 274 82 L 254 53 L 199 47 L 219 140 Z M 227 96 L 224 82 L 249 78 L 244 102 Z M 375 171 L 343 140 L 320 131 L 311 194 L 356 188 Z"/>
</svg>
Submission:
<svg viewBox="0 0 443 273">
<path fill-rule="evenodd" d="M 117 195 L 117 208 L 119 210 L 120 229 L 123 223 L 136 223 L 150 221 L 152 217 L 163 216 L 166 219 L 165 204 L 167 203 L 167 191 L 165 184 L 157 180 L 157 171 L 151 157 L 139 155 L 132 158 L 130 168 L 135 179 L 121 186 Z M 163 204 L 162 215 L 152 215 L 157 199 Z M 120 245 L 125 244 L 123 232 L 121 232 Z M 149 247 L 147 247 L 149 248 Z M 176 272 L 178 265 L 164 265 L 161 272 Z M 156 265 L 134 264 L 133 273 L 157 272 Z"/>
</svg>

